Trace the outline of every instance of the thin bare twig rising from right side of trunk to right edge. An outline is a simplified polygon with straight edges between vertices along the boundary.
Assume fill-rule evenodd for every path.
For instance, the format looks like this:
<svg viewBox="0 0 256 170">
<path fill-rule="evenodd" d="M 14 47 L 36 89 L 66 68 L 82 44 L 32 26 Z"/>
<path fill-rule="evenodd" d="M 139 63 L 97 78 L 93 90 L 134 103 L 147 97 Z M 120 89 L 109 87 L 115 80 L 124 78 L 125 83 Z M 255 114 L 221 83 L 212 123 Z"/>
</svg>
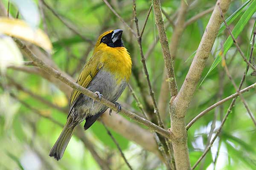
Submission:
<svg viewBox="0 0 256 170">
<path fill-rule="evenodd" d="M 247 91 L 249 91 L 250 89 L 255 88 L 255 87 L 256 87 L 256 82 L 255 82 L 254 84 L 252 84 L 252 85 L 250 85 L 250 86 L 248 86 L 248 87 L 242 89 L 242 90 L 239 91 L 239 92 L 240 92 L 241 94 L 243 94 L 244 92 L 247 92 Z M 204 111 L 202 111 L 201 113 L 199 113 L 197 116 L 195 116 L 195 118 L 192 119 L 192 120 L 188 123 L 188 125 L 186 125 L 186 130 L 188 130 L 189 127 L 191 127 L 198 119 L 200 119 L 202 116 L 204 116 L 204 115 L 205 115 L 206 113 L 208 113 L 209 111 L 211 111 L 212 109 L 216 108 L 216 107 L 219 106 L 219 105 L 222 105 L 224 102 L 227 102 L 227 101 L 229 101 L 230 99 L 236 98 L 237 96 L 239 96 L 239 93 L 238 93 L 238 92 L 236 92 L 236 93 L 234 93 L 234 94 L 232 94 L 232 95 L 226 97 L 225 99 L 222 99 L 222 100 L 216 102 L 215 104 L 211 105 L 209 108 L 205 109 Z"/>
</svg>

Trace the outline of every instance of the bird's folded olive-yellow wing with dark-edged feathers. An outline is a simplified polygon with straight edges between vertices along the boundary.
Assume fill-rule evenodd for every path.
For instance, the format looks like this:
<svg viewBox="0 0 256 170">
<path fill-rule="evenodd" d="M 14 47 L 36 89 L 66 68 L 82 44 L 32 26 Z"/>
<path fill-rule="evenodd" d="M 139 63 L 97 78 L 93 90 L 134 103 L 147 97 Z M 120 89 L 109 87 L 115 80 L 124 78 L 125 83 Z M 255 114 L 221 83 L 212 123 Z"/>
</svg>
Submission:
<svg viewBox="0 0 256 170">
<path fill-rule="evenodd" d="M 77 83 L 84 88 L 87 88 L 92 79 L 96 76 L 99 70 L 103 67 L 103 63 L 99 62 L 99 56 L 93 56 L 91 59 L 84 65 L 81 74 L 77 80 Z M 76 103 L 77 99 L 81 96 L 81 92 L 73 90 L 70 97 L 70 110 L 72 110 L 73 105 Z"/>
</svg>

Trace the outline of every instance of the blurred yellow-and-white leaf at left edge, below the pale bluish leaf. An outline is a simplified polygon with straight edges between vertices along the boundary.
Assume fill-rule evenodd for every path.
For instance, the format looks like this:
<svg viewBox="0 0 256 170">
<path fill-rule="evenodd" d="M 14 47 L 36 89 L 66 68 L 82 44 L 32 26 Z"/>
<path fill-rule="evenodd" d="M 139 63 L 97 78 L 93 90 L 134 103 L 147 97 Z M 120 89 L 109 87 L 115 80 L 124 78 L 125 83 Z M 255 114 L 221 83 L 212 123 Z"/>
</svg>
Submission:
<svg viewBox="0 0 256 170">
<path fill-rule="evenodd" d="M 29 27 L 23 20 L 1 17 L 0 33 L 32 42 L 49 52 L 52 50 L 49 37 L 41 29 Z"/>
</svg>

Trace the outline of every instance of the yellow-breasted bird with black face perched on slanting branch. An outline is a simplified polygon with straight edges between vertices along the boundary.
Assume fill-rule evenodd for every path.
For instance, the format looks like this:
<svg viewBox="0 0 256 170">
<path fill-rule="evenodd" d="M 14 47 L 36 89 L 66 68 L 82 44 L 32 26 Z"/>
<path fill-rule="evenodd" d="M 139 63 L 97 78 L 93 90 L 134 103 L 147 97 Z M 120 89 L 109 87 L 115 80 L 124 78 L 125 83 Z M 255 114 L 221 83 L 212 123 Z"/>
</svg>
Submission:
<svg viewBox="0 0 256 170">
<path fill-rule="evenodd" d="M 116 100 L 121 96 L 130 77 L 132 61 L 123 45 L 122 30 L 110 30 L 99 36 L 92 57 L 84 65 L 77 83 L 94 92 L 99 99 L 115 103 L 117 111 L 122 107 Z M 67 122 L 49 152 L 57 161 L 62 158 L 76 126 L 85 120 L 84 130 L 108 109 L 100 102 L 73 90 L 70 96 Z"/>
</svg>

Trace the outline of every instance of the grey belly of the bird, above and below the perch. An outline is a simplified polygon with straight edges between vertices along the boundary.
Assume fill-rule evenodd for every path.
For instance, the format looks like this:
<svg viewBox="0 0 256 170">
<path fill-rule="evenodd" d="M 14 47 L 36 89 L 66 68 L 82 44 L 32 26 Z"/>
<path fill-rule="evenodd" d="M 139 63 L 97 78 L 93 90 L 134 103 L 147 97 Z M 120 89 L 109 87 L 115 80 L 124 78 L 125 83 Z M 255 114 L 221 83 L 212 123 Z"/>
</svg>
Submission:
<svg viewBox="0 0 256 170">
<path fill-rule="evenodd" d="M 101 69 L 90 82 L 87 89 L 92 92 L 99 91 L 105 99 L 111 102 L 116 102 L 124 91 L 126 84 L 127 82 L 122 80 L 121 83 L 117 85 L 115 76 Z M 82 117 L 85 119 L 87 116 L 95 115 L 100 111 L 104 111 L 107 107 L 82 94 L 74 109 L 80 114 L 80 116 L 83 115 Z"/>
</svg>

